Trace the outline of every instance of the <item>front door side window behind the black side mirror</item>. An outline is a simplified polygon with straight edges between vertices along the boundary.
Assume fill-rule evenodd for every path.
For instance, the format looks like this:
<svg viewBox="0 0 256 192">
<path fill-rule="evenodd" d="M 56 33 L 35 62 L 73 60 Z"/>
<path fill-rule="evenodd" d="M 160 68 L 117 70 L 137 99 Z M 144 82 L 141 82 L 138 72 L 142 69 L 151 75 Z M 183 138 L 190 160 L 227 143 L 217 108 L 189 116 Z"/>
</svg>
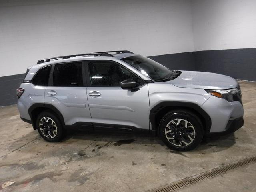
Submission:
<svg viewBox="0 0 256 192">
<path fill-rule="evenodd" d="M 129 70 L 111 61 L 89 61 L 88 68 L 92 86 L 120 87 L 120 82 L 132 78 L 139 85 L 144 81 Z"/>
</svg>

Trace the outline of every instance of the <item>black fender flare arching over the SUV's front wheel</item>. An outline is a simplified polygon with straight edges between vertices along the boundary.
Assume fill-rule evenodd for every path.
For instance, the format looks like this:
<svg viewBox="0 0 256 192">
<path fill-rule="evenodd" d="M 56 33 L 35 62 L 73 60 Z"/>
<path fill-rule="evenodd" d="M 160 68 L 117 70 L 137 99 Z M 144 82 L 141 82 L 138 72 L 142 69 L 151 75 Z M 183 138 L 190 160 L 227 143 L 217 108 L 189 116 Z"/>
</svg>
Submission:
<svg viewBox="0 0 256 192">
<path fill-rule="evenodd" d="M 152 133 L 156 134 L 156 130 L 158 129 L 158 127 L 156 127 L 156 115 L 158 114 L 158 112 L 160 112 L 160 110 L 166 107 L 175 107 L 175 108 L 181 107 L 181 108 L 191 108 L 193 110 L 196 110 L 198 114 L 200 114 L 200 116 L 204 118 L 204 126 L 205 126 L 206 133 L 210 132 L 210 129 L 212 126 L 212 120 L 210 116 L 199 105 L 191 102 L 164 101 L 164 102 L 160 102 L 150 110 L 149 119 L 151 122 Z"/>
</svg>

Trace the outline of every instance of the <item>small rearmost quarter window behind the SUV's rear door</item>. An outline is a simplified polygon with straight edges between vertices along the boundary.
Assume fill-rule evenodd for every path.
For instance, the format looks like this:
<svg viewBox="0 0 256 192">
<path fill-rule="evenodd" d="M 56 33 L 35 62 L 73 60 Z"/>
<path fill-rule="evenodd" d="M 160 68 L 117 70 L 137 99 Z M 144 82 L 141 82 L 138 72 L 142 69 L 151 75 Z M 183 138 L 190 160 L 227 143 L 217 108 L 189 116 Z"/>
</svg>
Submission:
<svg viewBox="0 0 256 192">
<path fill-rule="evenodd" d="M 32 84 L 39 85 L 39 86 L 47 86 L 51 68 L 52 66 L 47 66 L 40 69 L 36 73 L 36 76 L 34 76 L 32 80 Z"/>
</svg>

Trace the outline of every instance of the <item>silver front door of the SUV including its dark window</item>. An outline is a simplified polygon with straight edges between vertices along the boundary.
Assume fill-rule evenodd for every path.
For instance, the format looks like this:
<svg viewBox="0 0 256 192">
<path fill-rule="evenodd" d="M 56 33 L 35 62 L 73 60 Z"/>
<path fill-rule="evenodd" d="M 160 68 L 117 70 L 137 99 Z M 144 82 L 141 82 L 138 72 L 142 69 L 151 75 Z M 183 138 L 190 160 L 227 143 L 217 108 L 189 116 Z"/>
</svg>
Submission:
<svg viewBox="0 0 256 192">
<path fill-rule="evenodd" d="M 113 61 L 88 61 L 91 86 L 87 97 L 94 129 L 149 130 L 148 84 Z M 120 82 L 132 78 L 138 91 L 124 90 Z"/>
</svg>

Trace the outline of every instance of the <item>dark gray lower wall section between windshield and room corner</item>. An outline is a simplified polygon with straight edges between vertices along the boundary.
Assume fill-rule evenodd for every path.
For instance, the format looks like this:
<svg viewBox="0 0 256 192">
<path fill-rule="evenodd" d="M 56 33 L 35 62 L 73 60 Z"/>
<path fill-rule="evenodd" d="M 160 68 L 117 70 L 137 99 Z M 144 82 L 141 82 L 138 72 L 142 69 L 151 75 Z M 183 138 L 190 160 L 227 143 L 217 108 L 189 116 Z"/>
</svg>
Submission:
<svg viewBox="0 0 256 192">
<path fill-rule="evenodd" d="M 195 70 L 194 52 L 150 56 L 152 60 L 171 70 Z"/>
</svg>

